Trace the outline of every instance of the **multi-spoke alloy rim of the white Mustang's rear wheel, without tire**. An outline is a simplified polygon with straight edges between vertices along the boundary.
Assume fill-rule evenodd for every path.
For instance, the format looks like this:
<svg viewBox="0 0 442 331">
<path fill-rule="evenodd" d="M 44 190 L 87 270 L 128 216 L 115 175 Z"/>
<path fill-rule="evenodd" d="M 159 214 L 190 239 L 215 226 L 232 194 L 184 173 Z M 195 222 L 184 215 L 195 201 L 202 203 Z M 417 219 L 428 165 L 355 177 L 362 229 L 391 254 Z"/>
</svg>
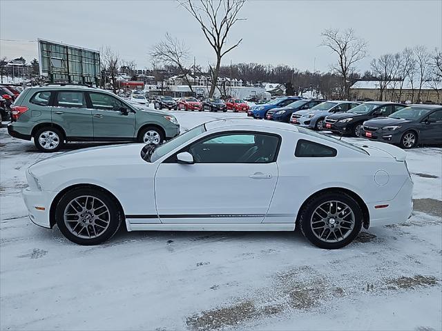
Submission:
<svg viewBox="0 0 442 331">
<path fill-rule="evenodd" d="M 354 225 L 352 208 L 341 201 L 326 201 L 320 204 L 310 219 L 315 237 L 327 243 L 343 241 L 352 233 Z"/>
</svg>

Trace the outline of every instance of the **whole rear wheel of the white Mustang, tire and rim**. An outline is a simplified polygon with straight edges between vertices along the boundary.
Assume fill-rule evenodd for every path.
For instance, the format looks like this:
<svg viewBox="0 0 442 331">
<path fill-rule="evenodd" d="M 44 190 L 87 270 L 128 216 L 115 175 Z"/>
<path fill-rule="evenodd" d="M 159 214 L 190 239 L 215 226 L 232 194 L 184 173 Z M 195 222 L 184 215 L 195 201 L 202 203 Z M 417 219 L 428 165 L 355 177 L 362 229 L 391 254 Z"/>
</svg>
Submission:
<svg viewBox="0 0 442 331">
<path fill-rule="evenodd" d="M 361 231 L 363 214 L 344 192 L 329 192 L 312 199 L 301 212 L 302 234 L 319 248 L 334 250 L 353 241 Z"/>
</svg>

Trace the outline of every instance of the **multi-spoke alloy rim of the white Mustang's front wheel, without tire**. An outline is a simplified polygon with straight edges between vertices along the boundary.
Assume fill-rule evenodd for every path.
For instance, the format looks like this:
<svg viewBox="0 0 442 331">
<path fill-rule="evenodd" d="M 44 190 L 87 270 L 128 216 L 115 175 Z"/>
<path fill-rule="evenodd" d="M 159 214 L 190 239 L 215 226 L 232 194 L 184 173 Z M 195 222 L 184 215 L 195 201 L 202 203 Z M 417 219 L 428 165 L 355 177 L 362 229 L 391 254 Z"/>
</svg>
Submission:
<svg viewBox="0 0 442 331">
<path fill-rule="evenodd" d="M 97 238 L 109 227 L 111 213 L 106 204 L 89 195 L 71 200 L 64 208 L 64 224 L 81 239 Z"/>
</svg>

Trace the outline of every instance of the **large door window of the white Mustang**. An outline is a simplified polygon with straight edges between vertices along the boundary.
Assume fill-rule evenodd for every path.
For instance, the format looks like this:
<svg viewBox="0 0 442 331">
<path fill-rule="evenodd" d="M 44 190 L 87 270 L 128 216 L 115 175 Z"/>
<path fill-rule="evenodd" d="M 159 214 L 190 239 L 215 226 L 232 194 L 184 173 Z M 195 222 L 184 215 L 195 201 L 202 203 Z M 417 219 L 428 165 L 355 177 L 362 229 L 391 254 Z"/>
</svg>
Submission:
<svg viewBox="0 0 442 331">
<path fill-rule="evenodd" d="M 276 161 L 280 137 L 273 134 L 223 133 L 193 143 L 195 163 L 271 163 Z"/>
</svg>

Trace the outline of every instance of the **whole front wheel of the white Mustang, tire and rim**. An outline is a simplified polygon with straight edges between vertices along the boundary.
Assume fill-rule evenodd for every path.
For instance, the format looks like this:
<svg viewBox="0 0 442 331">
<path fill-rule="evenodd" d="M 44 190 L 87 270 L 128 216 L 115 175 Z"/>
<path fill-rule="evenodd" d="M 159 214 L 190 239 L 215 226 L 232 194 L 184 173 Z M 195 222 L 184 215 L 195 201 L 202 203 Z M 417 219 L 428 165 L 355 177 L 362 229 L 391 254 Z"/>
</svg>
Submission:
<svg viewBox="0 0 442 331">
<path fill-rule="evenodd" d="M 64 194 L 55 210 L 64 237 L 79 245 L 97 245 L 110 239 L 121 223 L 115 201 L 105 192 L 76 188 Z"/>
</svg>

